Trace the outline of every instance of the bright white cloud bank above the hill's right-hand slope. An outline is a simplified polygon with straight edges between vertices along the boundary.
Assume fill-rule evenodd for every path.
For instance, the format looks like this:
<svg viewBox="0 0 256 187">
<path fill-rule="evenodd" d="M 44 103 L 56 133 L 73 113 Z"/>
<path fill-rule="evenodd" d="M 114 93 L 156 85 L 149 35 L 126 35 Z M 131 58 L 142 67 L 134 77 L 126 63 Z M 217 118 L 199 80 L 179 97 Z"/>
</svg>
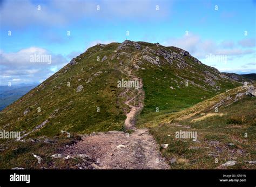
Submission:
<svg viewBox="0 0 256 187">
<path fill-rule="evenodd" d="M 180 38 L 171 38 L 162 43 L 165 46 L 176 46 L 184 49 L 204 64 L 214 66 L 220 72 L 251 72 L 255 70 L 255 49 L 243 49 L 234 41 L 205 40 L 190 34 Z M 214 58 L 209 58 L 214 57 Z M 247 62 L 248 66 L 245 66 Z M 250 65 L 250 66 L 249 66 Z"/>
</svg>

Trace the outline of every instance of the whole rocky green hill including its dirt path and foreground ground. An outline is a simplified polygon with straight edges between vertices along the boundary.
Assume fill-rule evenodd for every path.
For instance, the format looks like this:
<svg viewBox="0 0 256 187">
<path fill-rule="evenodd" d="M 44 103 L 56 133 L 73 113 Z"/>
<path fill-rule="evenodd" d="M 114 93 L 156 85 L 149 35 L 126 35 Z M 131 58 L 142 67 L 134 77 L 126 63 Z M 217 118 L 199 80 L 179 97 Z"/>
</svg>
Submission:
<svg viewBox="0 0 256 187">
<path fill-rule="evenodd" d="M 139 87 L 118 86 L 120 80 L 138 81 Z M 230 159 L 230 149 L 225 147 L 232 139 L 229 133 L 236 138 L 241 138 L 237 137 L 240 128 L 253 133 L 251 108 L 255 101 L 245 96 L 247 88 L 241 85 L 176 47 L 129 40 L 97 44 L 0 112 L 0 129 L 21 131 L 22 135 L 20 141 L 0 140 L 0 167 L 222 167 L 220 164 Z M 255 95 L 254 87 L 249 88 Z M 212 114 L 214 105 L 220 114 Z M 245 117 L 239 116 L 239 107 L 246 111 Z M 245 124 L 247 120 L 251 122 Z M 225 128 L 231 123 L 233 130 L 223 129 L 220 123 Z M 200 141 L 172 137 L 173 130 L 181 129 L 198 131 Z M 214 138 L 220 140 L 225 153 L 217 166 L 207 155 L 216 155 L 216 147 L 210 144 Z M 248 142 L 253 143 L 253 137 Z M 242 157 L 237 152 L 234 155 L 247 167 L 242 159 L 251 163 L 245 153 L 253 154 L 253 150 L 247 144 L 238 146 L 234 150 Z M 35 164 L 35 155 L 43 159 L 41 164 Z M 198 164 L 194 164 L 194 157 Z"/>
</svg>

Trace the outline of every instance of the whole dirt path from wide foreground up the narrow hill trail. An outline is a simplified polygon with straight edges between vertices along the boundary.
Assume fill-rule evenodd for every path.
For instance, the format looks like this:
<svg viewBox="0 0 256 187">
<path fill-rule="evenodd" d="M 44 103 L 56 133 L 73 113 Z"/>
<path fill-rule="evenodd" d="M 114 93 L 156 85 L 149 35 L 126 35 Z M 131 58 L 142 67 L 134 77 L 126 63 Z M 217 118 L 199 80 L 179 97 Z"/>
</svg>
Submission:
<svg viewBox="0 0 256 187">
<path fill-rule="evenodd" d="M 135 63 L 134 60 L 133 63 Z M 149 134 L 148 129 L 137 129 L 135 127 L 136 115 L 143 108 L 144 92 L 142 79 L 132 75 L 131 70 L 125 70 L 129 77 L 139 81 L 139 89 L 129 90 L 127 88 L 122 94 L 132 92 L 133 96 L 128 98 L 125 104 L 130 107 L 127 112 L 125 127 L 133 129 L 133 133 L 123 131 L 109 131 L 84 136 L 74 146 L 64 150 L 64 155 L 76 157 L 85 155 L 87 160 L 81 169 L 169 169 L 169 165 L 161 157 L 159 145 Z M 88 159 L 90 160 L 88 167 Z M 86 165 L 86 167 L 83 167 Z"/>
</svg>

